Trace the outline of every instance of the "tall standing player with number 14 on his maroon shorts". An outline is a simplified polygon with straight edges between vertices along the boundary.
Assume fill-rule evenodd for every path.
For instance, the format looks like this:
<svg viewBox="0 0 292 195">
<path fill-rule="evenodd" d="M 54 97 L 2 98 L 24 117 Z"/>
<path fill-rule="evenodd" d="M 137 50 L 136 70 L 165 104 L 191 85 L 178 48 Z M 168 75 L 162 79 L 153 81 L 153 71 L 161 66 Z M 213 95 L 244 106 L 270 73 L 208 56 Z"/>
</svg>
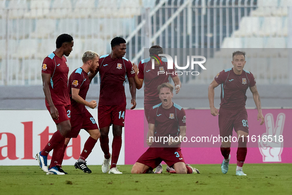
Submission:
<svg viewBox="0 0 292 195">
<path fill-rule="evenodd" d="M 117 162 L 122 147 L 122 129 L 125 123 L 125 78 L 128 78 L 131 93 L 131 109 L 136 107 L 136 85 L 134 81 L 135 72 L 132 70 L 131 62 L 125 56 L 125 40 L 116 37 L 111 41 L 112 51 L 110 54 L 100 56 L 100 66 L 94 74 L 89 74 L 93 78 L 99 71 L 100 75 L 100 96 L 98 102 L 98 125 L 100 129 L 100 146 L 104 152 L 102 163 L 103 173 L 122 174 L 118 170 Z M 112 155 L 109 152 L 109 130 L 113 125 Z M 112 159 L 111 166 L 110 160 Z M 109 168 L 110 166 L 110 168 Z"/>
</svg>

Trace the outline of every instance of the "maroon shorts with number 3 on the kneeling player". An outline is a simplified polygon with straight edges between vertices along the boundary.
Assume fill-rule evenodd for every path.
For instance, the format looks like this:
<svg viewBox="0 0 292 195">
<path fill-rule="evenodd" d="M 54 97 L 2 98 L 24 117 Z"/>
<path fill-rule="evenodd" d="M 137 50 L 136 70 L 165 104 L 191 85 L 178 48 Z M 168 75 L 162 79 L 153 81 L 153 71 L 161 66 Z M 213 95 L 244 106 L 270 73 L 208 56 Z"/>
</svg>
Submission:
<svg viewBox="0 0 292 195">
<path fill-rule="evenodd" d="M 170 167 L 177 162 L 184 162 L 180 147 L 149 147 L 137 160 L 152 169 L 162 161 L 165 161 Z"/>
</svg>

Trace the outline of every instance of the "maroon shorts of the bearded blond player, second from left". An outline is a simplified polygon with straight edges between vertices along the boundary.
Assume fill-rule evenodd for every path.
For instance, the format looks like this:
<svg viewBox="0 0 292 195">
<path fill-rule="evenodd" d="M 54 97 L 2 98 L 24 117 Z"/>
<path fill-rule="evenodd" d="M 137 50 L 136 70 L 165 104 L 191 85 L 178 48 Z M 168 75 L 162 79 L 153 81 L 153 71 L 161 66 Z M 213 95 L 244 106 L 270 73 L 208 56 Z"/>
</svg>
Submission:
<svg viewBox="0 0 292 195">
<path fill-rule="evenodd" d="M 71 114 L 71 131 L 66 135 L 66 138 L 77 138 L 81 129 L 94 130 L 98 129 L 93 116 L 86 109 L 82 114 Z"/>
</svg>

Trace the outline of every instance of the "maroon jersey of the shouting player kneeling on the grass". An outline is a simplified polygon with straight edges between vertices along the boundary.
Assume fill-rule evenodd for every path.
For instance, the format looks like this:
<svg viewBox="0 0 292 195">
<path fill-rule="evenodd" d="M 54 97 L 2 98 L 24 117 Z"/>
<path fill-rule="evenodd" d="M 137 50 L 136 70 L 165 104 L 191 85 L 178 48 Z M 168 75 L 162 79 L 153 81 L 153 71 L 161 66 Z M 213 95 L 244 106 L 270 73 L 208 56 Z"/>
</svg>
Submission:
<svg viewBox="0 0 292 195">
<path fill-rule="evenodd" d="M 176 137 L 179 136 L 179 127 L 186 126 L 186 113 L 184 109 L 173 103 L 173 105 L 165 109 L 162 107 L 162 103 L 153 106 L 149 112 L 149 123 L 155 125 L 154 137 Z M 158 140 L 158 139 L 157 139 Z M 165 146 L 169 147 L 168 143 L 163 144 L 153 142 L 151 147 Z M 175 147 L 180 147 L 175 145 Z"/>
</svg>

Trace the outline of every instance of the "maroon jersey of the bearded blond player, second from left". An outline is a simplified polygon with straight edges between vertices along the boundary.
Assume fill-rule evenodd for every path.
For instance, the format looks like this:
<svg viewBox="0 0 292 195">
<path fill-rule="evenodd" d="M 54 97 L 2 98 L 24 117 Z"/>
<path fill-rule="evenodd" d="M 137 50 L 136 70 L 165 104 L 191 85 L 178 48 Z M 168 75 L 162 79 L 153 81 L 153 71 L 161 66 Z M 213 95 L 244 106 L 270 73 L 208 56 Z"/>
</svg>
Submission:
<svg viewBox="0 0 292 195">
<path fill-rule="evenodd" d="M 85 105 L 72 99 L 72 88 L 79 89 L 79 96 L 85 100 L 90 84 L 87 72 L 82 68 L 77 68 L 70 75 L 68 83 L 68 91 L 71 100 L 71 113 L 82 114 L 86 110 Z"/>
</svg>

